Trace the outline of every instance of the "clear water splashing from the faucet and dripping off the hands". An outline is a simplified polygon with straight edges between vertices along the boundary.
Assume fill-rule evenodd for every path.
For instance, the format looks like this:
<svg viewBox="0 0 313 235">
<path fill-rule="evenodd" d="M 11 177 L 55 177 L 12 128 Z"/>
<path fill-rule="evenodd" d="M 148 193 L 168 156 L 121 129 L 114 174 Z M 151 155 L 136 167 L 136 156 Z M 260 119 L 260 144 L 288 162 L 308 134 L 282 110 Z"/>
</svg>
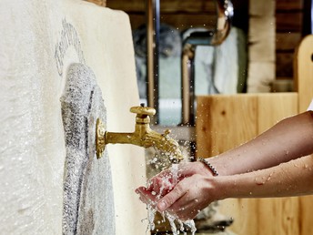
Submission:
<svg viewBox="0 0 313 235">
<path fill-rule="evenodd" d="M 157 199 L 160 199 L 161 195 L 162 195 L 162 191 L 165 189 L 165 187 L 170 184 L 169 179 L 172 179 L 174 182 L 174 185 L 177 184 L 177 179 L 178 179 L 178 165 L 177 164 L 173 164 L 172 168 L 171 168 L 171 176 L 168 176 L 167 178 L 164 178 L 164 183 L 161 186 L 160 189 L 160 193 L 157 196 Z M 171 184 L 173 184 L 173 182 Z M 150 230 L 155 230 L 156 225 L 155 225 L 155 217 L 157 214 L 157 209 L 156 209 L 156 202 L 154 201 L 150 201 L 147 204 L 147 210 L 148 210 L 148 227 Z M 186 220 L 186 221 L 182 221 L 179 220 L 176 216 L 170 214 L 168 211 L 164 211 L 162 213 L 163 219 L 164 220 L 168 220 L 171 230 L 173 232 L 173 235 L 178 235 L 180 234 L 180 231 L 184 232 L 184 235 L 187 235 L 187 231 L 185 231 L 185 226 L 187 226 L 192 235 L 195 235 L 196 233 L 196 225 L 195 225 L 195 221 L 194 220 Z M 177 224 L 179 225 L 179 228 L 177 229 Z"/>
</svg>

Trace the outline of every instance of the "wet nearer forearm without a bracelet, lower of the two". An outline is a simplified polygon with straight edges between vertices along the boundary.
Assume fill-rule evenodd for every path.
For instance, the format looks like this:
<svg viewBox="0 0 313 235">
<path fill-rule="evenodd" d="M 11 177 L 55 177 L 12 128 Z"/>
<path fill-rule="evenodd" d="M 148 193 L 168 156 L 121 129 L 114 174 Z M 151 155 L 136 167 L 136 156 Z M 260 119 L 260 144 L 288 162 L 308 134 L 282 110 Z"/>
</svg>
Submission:
<svg viewBox="0 0 313 235">
<path fill-rule="evenodd" d="M 291 160 L 254 172 L 215 178 L 217 199 L 271 198 L 308 195 L 313 192 L 313 158 Z"/>
</svg>

